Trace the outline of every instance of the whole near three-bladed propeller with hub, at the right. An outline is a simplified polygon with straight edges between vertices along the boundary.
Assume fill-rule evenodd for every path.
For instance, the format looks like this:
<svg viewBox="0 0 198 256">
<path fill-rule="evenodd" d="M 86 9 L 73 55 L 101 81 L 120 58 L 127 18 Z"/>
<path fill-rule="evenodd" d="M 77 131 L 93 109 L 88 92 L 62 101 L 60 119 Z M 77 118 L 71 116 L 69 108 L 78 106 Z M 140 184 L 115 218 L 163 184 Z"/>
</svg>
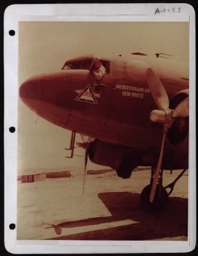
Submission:
<svg viewBox="0 0 198 256">
<path fill-rule="evenodd" d="M 158 107 L 158 109 L 160 109 L 160 110 L 155 109 L 151 111 L 150 119 L 152 122 L 160 122 L 164 125 L 162 143 L 160 147 L 160 155 L 158 157 L 158 163 L 156 164 L 155 177 L 153 179 L 151 193 L 149 196 L 149 201 L 152 203 L 155 198 L 156 186 L 157 186 L 157 182 L 158 182 L 158 178 L 159 178 L 160 170 L 162 166 L 162 159 L 164 155 L 164 144 L 165 144 L 167 132 L 169 131 L 169 128 L 171 127 L 172 122 L 174 122 L 174 118 L 185 117 L 189 115 L 188 114 L 189 113 L 189 97 L 181 101 L 176 107 L 176 109 L 174 109 L 173 111 L 169 109 L 169 97 L 165 92 L 165 88 L 162 82 L 150 67 L 146 70 L 146 79 L 147 79 L 151 94 L 153 96 L 153 99 L 155 101 L 155 104 Z"/>
</svg>

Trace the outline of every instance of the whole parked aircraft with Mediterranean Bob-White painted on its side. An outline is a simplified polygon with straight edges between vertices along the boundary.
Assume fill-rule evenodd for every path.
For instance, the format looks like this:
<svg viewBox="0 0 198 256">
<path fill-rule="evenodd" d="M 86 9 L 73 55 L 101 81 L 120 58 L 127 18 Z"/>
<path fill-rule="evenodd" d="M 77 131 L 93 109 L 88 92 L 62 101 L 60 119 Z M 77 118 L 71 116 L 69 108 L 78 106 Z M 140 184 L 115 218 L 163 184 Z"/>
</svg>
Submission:
<svg viewBox="0 0 198 256">
<path fill-rule="evenodd" d="M 31 77 L 20 86 L 20 98 L 45 120 L 72 131 L 71 157 L 75 133 L 82 134 L 85 173 L 88 156 L 123 179 L 137 166 L 152 166 L 141 202 L 144 209 L 162 209 L 188 169 L 188 65 L 168 54 L 114 54 L 102 58 L 105 74 L 97 80 L 94 63 L 94 56 L 81 56 L 60 72 Z M 183 172 L 164 188 L 163 170 L 176 169 Z"/>
</svg>

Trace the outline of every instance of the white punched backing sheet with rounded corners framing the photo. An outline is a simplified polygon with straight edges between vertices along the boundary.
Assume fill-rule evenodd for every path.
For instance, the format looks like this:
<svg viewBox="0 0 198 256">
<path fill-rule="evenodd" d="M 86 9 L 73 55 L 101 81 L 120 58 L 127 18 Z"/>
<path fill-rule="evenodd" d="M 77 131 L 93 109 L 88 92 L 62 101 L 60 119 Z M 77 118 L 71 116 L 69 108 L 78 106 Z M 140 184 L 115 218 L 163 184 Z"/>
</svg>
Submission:
<svg viewBox="0 0 198 256">
<path fill-rule="evenodd" d="M 76 8 L 77 5 L 77 8 Z M 156 13 L 180 8 L 181 12 Z M 190 139 L 188 241 L 17 241 L 17 131 L 19 21 L 188 21 L 190 40 Z M 13 29 L 15 36 L 10 36 Z M 195 12 L 189 4 L 15 4 L 4 13 L 4 242 L 11 253 L 154 253 L 195 248 Z"/>
</svg>

